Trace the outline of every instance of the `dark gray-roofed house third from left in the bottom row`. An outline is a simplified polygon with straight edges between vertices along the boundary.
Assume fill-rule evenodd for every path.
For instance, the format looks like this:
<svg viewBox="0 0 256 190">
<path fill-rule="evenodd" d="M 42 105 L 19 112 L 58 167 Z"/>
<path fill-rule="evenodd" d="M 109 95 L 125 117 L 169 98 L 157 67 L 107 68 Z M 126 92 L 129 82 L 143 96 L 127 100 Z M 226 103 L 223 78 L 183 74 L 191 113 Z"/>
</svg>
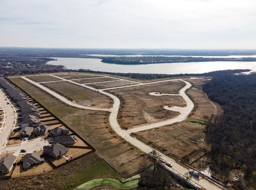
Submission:
<svg viewBox="0 0 256 190">
<path fill-rule="evenodd" d="M 44 146 L 44 155 L 51 156 L 55 159 L 63 157 L 68 151 L 68 148 L 60 144 L 51 144 Z"/>
</svg>

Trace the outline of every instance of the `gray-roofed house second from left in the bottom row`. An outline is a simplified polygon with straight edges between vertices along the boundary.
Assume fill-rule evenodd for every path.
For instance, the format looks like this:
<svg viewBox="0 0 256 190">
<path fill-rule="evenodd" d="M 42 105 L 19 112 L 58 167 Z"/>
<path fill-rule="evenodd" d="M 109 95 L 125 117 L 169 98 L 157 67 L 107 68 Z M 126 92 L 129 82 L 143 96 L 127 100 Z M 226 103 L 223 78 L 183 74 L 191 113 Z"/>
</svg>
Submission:
<svg viewBox="0 0 256 190">
<path fill-rule="evenodd" d="M 38 152 L 34 153 L 27 153 L 21 158 L 21 161 L 23 162 L 23 168 L 25 170 L 40 165 L 44 163 L 44 158 L 40 157 L 40 154 Z"/>
</svg>

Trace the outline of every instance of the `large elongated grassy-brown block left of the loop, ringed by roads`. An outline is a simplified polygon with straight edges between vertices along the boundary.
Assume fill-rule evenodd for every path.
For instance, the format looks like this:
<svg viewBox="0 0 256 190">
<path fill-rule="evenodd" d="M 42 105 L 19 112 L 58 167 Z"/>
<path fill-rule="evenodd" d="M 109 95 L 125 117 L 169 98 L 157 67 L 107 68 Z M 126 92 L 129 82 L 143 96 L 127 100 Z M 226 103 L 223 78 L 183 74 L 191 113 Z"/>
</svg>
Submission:
<svg viewBox="0 0 256 190">
<path fill-rule="evenodd" d="M 80 105 L 93 108 L 112 107 L 110 97 L 70 82 L 50 82 L 44 83 L 44 86 Z"/>
</svg>

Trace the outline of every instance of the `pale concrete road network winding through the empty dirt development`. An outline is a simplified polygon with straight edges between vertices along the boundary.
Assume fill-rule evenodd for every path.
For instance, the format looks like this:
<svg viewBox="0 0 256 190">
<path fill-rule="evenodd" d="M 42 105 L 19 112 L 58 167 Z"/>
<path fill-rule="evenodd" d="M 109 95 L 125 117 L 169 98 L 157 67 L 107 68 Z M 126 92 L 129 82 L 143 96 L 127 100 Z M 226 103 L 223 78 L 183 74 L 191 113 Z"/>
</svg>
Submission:
<svg viewBox="0 0 256 190">
<path fill-rule="evenodd" d="M 143 130 L 148 130 L 148 129 L 152 129 L 152 128 L 156 128 L 156 127 L 161 127 L 164 125 L 170 125 L 172 123 L 176 123 L 176 122 L 181 122 L 184 119 L 187 118 L 187 116 L 190 114 L 190 112 L 193 110 L 194 108 L 194 104 L 193 102 L 190 100 L 190 98 L 186 95 L 186 90 L 188 88 L 191 87 L 191 84 L 186 81 L 186 78 L 184 79 L 170 79 L 170 80 L 161 80 L 161 81 L 156 81 L 156 82 L 148 82 L 148 83 L 140 83 L 137 82 L 138 84 L 133 84 L 133 85 L 127 85 L 127 86 L 119 86 L 119 87 L 114 87 L 114 88 L 106 88 L 106 89 L 96 89 L 96 88 L 92 88 L 90 86 L 87 86 L 85 84 L 80 84 L 78 82 L 75 82 L 75 80 L 68 80 L 66 78 L 62 78 L 59 76 L 55 76 L 52 74 L 49 74 L 50 76 L 53 76 L 55 78 L 60 79 L 61 81 L 67 81 L 70 82 L 72 84 L 76 84 L 79 86 L 82 86 L 84 88 L 89 88 L 91 90 L 97 91 L 99 93 L 105 94 L 107 96 L 109 96 L 110 98 L 112 98 L 114 100 L 114 104 L 113 107 L 110 109 L 102 109 L 102 108 L 91 108 L 88 106 L 82 106 L 79 104 L 74 104 L 73 102 L 67 100 L 66 98 L 64 98 L 63 96 L 60 96 L 59 94 L 57 94 L 56 92 L 46 88 L 45 86 L 42 86 L 41 84 L 39 84 L 39 82 L 34 82 L 32 80 L 30 80 L 29 78 L 26 78 L 25 76 L 20 76 L 21 78 L 23 78 L 24 80 L 27 80 L 28 82 L 34 84 L 35 86 L 38 86 L 39 88 L 41 88 L 42 90 L 45 90 L 46 92 L 52 94 L 53 96 L 55 96 L 56 98 L 62 100 L 63 102 L 65 102 L 66 104 L 69 104 L 71 106 L 77 107 L 77 108 L 82 108 L 82 109 L 89 109 L 89 110 L 101 110 L 101 111 L 108 111 L 110 112 L 110 117 L 109 117 L 109 121 L 110 121 L 110 125 L 112 127 L 112 129 L 114 129 L 114 131 L 123 139 L 125 139 L 128 143 L 132 144 L 134 147 L 137 147 L 138 149 L 140 149 L 141 151 L 144 151 L 145 153 L 150 153 L 151 151 L 153 151 L 154 149 L 144 143 L 142 143 L 141 141 L 139 141 L 138 139 L 130 136 L 131 133 L 136 133 L 138 131 L 143 131 Z M 99 76 L 99 75 L 98 75 Z M 123 80 L 121 78 L 119 78 L 120 80 Z M 173 81 L 173 80 L 179 80 L 181 82 L 185 83 L 185 86 L 180 90 L 179 94 L 171 94 L 174 96 L 182 96 L 182 98 L 184 99 L 184 101 L 186 102 L 186 106 L 185 107 L 178 107 L 178 106 L 170 106 L 168 107 L 168 105 L 165 106 L 165 109 L 168 110 L 172 110 L 172 111 L 176 111 L 176 112 L 180 112 L 180 115 L 178 115 L 176 118 L 172 118 L 172 119 L 167 119 L 165 121 L 161 121 L 161 122 L 156 122 L 156 123 L 152 123 L 152 124 L 148 124 L 148 125 L 144 125 L 141 127 L 137 127 L 137 128 L 133 128 L 133 129 L 128 129 L 128 130 L 124 130 L 120 128 L 120 125 L 117 121 L 117 116 L 118 116 L 118 110 L 120 107 L 120 100 L 114 96 L 113 94 L 110 94 L 108 92 L 105 92 L 104 90 L 110 90 L 110 89 L 117 89 L 117 88 L 127 88 L 127 87 L 131 87 L 131 86 L 141 86 L 141 85 L 146 85 L 146 84 L 154 84 L 154 83 L 161 83 L 161 82 L 167 82 L 167 81 Z M 129 82 L 134 82 L 132 80 L 126 80 Z M 154 92 L 155 93 L 155 92 Z M 153 95 L 153 94 L 151 94 Z M 160 95 L 160 94 L 159 94 Z M 167 94 L 162 94 L 162 95 L 167 95 Z M 168 94 L 170 95 L 170 94 Z M 44 143 L 42 143 L 43 145 Z M 42 146 L 40 143 L 38 143 L 39 146 Z M 11 149 L 10 149 L 11 150 Z M 157 151 L 158 152 L 158 151 Z M 166 166 L 166 168 L 168 168 L 169 170 L 171 170 L 172 172 L 178 174 L 179 176 L 184 176 L 185 172 L 188 172 L 188 168 L 184 167 L 183 165 L 181 165 L 180 163 L 177 163 L 176 161 L 170 159 L 169 157 L 167 157 L 166 155 L 158 152 L 158 154 L 160 155 L 160 157 L 162 159 L 164 159 L 165 161 L 168 161 L 170 163 L 173 164 L 172 168 L 169 168 Z M 220 190 L 220 189 L 225 189 L 222 186 L 217 186 L 216 184 L 208 181 L 208 180 L 203 180 L 202 178 L 191 178 L 189 180 L 192 184 L 195 184 L 198 187 L 203 187 L 206 189 L 211 189 L 211 190 Z"/>
</svg>

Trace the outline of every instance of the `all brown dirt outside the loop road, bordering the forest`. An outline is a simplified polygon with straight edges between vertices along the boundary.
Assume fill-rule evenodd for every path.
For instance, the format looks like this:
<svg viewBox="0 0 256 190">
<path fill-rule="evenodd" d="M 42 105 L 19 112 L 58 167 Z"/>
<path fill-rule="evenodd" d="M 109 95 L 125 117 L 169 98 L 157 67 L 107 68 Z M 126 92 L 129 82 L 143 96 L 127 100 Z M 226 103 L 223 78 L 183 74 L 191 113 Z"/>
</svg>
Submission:
<svg viewBox="0 0 256 190">
<path fill-rule="evenodd" d="M 200 88 L 206 80 L 191 80 L 190 82 L 193 86 L 187 93 L 193 100 L 195 107 L 188 119 L 181 123 L 133 134 L 140 141 L 163 152 L 172 159 L 182 160 L 187 164 L 191 164 L 203 156 L 205 148 L 204 125 L 192 124 L 187 121 L 203 121 L 204 115 L 210 116 L 220 113 L 220 107 L 210 102 Z"/>
</svg>

